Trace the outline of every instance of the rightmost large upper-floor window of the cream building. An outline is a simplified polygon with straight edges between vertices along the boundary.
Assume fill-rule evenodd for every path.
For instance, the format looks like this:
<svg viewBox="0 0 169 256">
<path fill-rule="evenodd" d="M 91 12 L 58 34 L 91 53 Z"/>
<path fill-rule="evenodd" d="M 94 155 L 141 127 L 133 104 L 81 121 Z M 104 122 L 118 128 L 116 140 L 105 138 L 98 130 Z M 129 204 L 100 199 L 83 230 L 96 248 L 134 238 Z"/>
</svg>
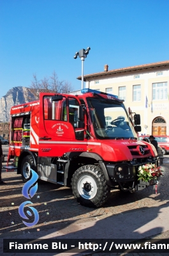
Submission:
<svg viewBox="0 0 169 256">
<path fill-rule="evenodd" d="M 152 99 L 166 100 L 167 99 L 167 83 L 153 83 L 152 84 Z"/>
</svg>

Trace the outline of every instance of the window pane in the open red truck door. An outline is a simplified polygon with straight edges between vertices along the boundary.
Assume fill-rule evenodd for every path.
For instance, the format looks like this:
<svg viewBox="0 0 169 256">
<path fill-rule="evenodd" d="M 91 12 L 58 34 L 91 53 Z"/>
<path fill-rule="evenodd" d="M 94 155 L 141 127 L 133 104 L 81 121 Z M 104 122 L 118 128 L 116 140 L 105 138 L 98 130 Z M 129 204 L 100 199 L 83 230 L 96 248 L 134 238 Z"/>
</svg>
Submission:
<svg viewBox="0 0 169 256">
<path fill-rule="evenodd" d="M 43 98 L 43 108 L 45 120 L 68 120 L 65 97 L 62 100 L 52 101 L 50 96 L 45 96 Z"/>
</svg>

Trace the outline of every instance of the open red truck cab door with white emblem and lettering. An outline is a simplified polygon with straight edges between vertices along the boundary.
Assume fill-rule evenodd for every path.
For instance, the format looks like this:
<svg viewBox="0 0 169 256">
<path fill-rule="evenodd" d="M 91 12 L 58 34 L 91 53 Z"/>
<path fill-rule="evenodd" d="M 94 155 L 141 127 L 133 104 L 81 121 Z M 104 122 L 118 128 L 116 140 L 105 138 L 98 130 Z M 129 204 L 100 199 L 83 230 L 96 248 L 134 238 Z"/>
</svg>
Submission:
<svg viewBox="0 0 169 256">
<path fill-rule="evenodd" d="M 39 156 L 62 156 L 70 148 L 77 148 L 84 141 L 76 136 L 80 102 L 68 95 L 60 95 L 60 100 L 49 93 L 40 97 Z"/>
</svg>

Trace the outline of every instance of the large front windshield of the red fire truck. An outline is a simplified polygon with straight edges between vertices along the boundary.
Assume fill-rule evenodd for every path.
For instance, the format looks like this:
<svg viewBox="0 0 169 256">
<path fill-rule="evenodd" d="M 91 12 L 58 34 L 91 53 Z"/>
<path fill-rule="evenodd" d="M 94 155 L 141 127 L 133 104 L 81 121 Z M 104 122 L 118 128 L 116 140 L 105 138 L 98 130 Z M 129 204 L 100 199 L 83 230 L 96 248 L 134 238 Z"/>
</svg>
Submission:
<svg viewBox="0 0 169 256">
<path fill-rule="evenodd" d="M 135 139 L 136 132 L 121 102 L 87 99 L 96 137 L 101 140 Z"/>
</svg>

